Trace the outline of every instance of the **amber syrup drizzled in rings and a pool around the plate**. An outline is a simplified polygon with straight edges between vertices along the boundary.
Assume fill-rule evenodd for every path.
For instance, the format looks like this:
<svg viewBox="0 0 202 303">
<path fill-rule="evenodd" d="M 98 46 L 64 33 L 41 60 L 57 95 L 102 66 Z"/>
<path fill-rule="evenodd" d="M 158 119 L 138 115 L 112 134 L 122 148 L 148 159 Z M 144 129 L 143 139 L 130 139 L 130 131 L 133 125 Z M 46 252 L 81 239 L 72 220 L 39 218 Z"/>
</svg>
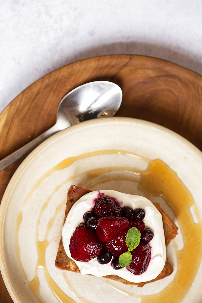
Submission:
<svg viewBox="0 0 202 303">
<path fill-rule="evenodd" d="M 145 196 L 147 198 L 149 198 L 150 196 L 161 195 L 165 199 L 166 203 L 173 209 L 173 211 L 178 219 L 178 222 L 181 226 L 181 230 L 182 230 L 182 234 L 183 234 L 184 248 L 181 251 L 177 252 L 178 271 L 177 271 L 173 281 L 158 294 L 149 295 L 149 296 L 134 295 L 134 297 L 139 298 L 139 299 L 141 298 L 142 303 L 154 303 L 154 302 L 156 303 L 157 301 L 158 301 L 158 303 L 160 303 L 160 302 L 163 303 L 163 302 L 168 302 L 168 301 L 174 302 L 174 303 L 180 302 L 186 295 L 188 289 L 191 287 L 191 284 L 194 281 L 194 277 L 197 273 L 197 269 L 198 269 L 198 266 L 200 263 L 202 245 L 200 244 L 200 241 L 197 239 L 200 239 L 200 235 L 201 235 L 201 231 L 202 231 L 201 220 L 200 220 L 199 212 L 197 211 L 197 207 L 194 203 L 194 200 L 193 200 L 190 192 L 187 190 L 187 188 L 185 188 L 185 186 L 179 180 L 177 175 L 167 165 L 165 165 L 165 163 L 163 163 L 161 160 L 148 160 L 139 155 L 135 155 L 130 152 L 120 151 L 120 150 L 119 151 L 116 151 L 116 150 L 97 151 L 97 152 L 93 152 L 93 153 L 87 153 L 84 155 L 80 155 L 78 157 L 68 158 L 68 159 L 65 159 L 64 161 L 62 161 L 61 163 L 59 163 L 58 165 L 56 165 L 54 168 L 47 171 L 47 173 L 45 173 L 36 182 L 36 184 L 31 188 L 30 192 L 28 193 L 28 195 L 24 201 L 24 205 L 28 202 L 29 198 L 31 197 L 33 192 L 36 190 L 36 188 L 41 184 L 41 182 L 46 177 L 48 177 L 53 171 L 66 168 L 69 165 L 71 165 L 74 161 L 77 161 L 79 159 L 91 157 L 94 155 L 102 155 L 102 154 L 130 155 L 130 156 L 135 156 L 136 158 L 141 158 L 145 161 L 148 161 L 149 166 L 146 169 L 146 171 L 129 168 L 130 171 L 133 171 L 137 175 L 141 175 L 141 178 L 139 180 L 135 179 L 135 178 L 131 178 L 131 177 L 128 177 L 128 178 L 118 177 L 118 178 L 119 179 L 126 178 L 127 180 L 130 180 L 130 181 L 133 180 L 135 182 L 139 182 L 139 188 L 145 192 Z M 117 170 L 117 168 L 105 168 L 104 170 L 97 169 L 97 170 L 92 170 L 92 171 L 86 172 L 86 174 L 87 174 L 86 181 L 91 178 L 94 178 L 95 176 L 99 176 L 104 171 L 109 172 L 109 171 L 115 171 L 115 170 Z M 118 170 L 121 170 L 121 168 L 118 168 Z M 162 178 L 162 176 L 163 176 L 163 178 Z M 71 179 L 73 179 L 74 177 L 72 177 Z M 113 179 L 114 179 L 114 177 L 113 177 Z M 104 181 L 108 181 L 108 180 L 109 180 L 109 177 L 108 178 L 106 177 L 104 179 Z M 103 181 L 103 179 L 96 181 L 96 183 L 99 184 L 101 181 Z M 65 182 L 67 182 L 67 180 Z M 65 182 L 63 182 L 62 184 L 64 184 Z M 85 183 L 85 181 L 83 183 Z M 158 185 L 158 186 L 156 186 L 156 185 Z M 60 186 L 61 185 L 59 185 L 59 187 Z M 173 196 L 171 195 L 171 189 L 172 189 L 172 193 L 174 193 L 176 199 L 173 199 Z M 175 201 L 177 201 L 177 203 L 175 203 Z M 179 201 L 181 201 L 181 202 L 179 202 Z M 47 206 L 47 201 L 46 201 L 45 205 Z M 46 206 L 43 205 L 42 209 L 44 210 L 46 208 Z M 197 216 L 197 219 L 199 222 L 198 224 L 195 224 L 193 222 L 193 218 L 189 211 L 190 206 L 194 206 L 195 213 L 196 213 L 196 216 Z M 42 213 L 42 211 L 41 211 L 41 213 Z M 21 215 L 22 215 L 21 213 L 18 215 L 18 220 L 17 220 L 18 228 L 16 229 L 16 239 L 17 239 L 17 234 L 19 231 L 19 226 L 21 223 L 21 218 L 20 218 Z M 55 216 L 56 215 L 54 215 L 54 217 Z M 50 224 L 48 224 L 48 227 L 47 227 L 46 237 L 48 235 L 48 231 L 50 230 L 53 222 L 54 222 L 54 218 L 51 218 L 49 221 Z M 194 243 L 194 245 L 193 245 L 193 243 Z M 56 298 L 58 299 L 58 301 L 74 302 L 71 298 L 67 297 L 67 295 L 65 295 L 63 291 L 60 290 L 60 288 L 57 286 L 57 284 L 54 282 L 54 280 L 50 277 L 50 275 L 47 271 L 47 268 L 45 265 L 45 250 L 46 250 L 48 244 L 49 244 L 49 242 L 46 239 L 43 242 L 38 241 L 38 243 L 37 243 L 39 258 L 38 258 L 38 262 L 37 262 L 35 277 L 31 282 L 29 282 L 29 287 L 31 288 L 31 290 L 34 292 L 34 294 L 37 297 L 36 289 L 38 289 L 38 294 L 39 294 L 39 282 L 38 282 L 38 278 L 37 278 L 37 269 L 39 267 L 43 267 L 49 287 L 53 291 L 53 293 L 56 296 Z M 196 247 L 196 245 L 198 245 L 198 246 Z M 198 248 L 198 249 L 196 249 L 196 248 Z M 187 253 L 187 252 L 189 252 L 189 253 Z M 17 253 L 17 257 L 20 260 L 18 244 L 16 245 L 16 253 Z M 188 260 L 188 262 L 187 262 L 187 260 Z M 193 264 L 192 260 L 194 260 L 194 264 Z M 187 277 L 189 277 L 189 279 L 187 279 Z M 73 291 L 73 289 L 72 289 L 72 291 Z M 126 291 L 125 290 L 122 291 L 121 288 L 119 289 L 119 291 L 126 294 Z M 131 294 L 129 294 L 129 295 L 131 295 Z M 39 301 L 44 303 L 44 300 L 41 298 L 40 295 L 39 295 L 38 299 L 40 299 Z M 86 300 L 86 299 L 84 299 L 84 300 Z M 87 302 L 87 301 L 83 301 L 83 302 Z"/>
</svg>

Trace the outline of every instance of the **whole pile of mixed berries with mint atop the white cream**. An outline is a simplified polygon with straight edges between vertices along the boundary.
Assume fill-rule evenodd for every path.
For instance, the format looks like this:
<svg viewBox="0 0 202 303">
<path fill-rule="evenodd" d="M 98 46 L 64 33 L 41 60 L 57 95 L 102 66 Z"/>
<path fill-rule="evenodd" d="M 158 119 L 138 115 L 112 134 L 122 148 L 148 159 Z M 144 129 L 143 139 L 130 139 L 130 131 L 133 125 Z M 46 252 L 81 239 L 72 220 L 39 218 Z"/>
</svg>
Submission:
<svg viewBox="0 0 202 303">
<path fill-rule="evenodd" d="M 111 261 L 114 269 L 126 267 L 135 275 L 142 274 L 150 261 L 150 242 L 154 236 L 145 228 L 145 211 L 120 207 L 111 197 L 95 200 L 92 211 L 83 215 L 70 239 L 70 253 L 76 261 L 97 258 L 99 264 Z"/>
</svg>

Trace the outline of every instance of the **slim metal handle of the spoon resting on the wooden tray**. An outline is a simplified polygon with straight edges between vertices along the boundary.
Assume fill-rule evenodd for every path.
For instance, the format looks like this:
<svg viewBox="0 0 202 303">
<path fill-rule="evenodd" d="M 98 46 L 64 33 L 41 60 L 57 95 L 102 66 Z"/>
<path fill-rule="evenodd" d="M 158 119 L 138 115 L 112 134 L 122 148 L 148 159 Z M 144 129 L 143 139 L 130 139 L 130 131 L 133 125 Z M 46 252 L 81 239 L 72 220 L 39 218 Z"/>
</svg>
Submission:
<svg viewBox="0 0 202 303">
<path fill-rule="evenodd" d="M 68 125 L 70 126 L 70 125 Z M 66 126 L 67 127 L 67 126 Z M 56 132 L 62 130 L 58 128 L 57 123 L 53 125 L 51 128 L 47 129 L 44 133 L 33 139 L 32 141 L 28 142 L 26 145 L 19 148 L 17 151 L 14 151 L 12 154 L 8 155 L 6 158 L 0 161 L 0 171 L 6 168 L 8 165 L 12 164 L 13 162 L 17 161 L 22 156 L 26 155 L 28 152 L 32 151 L 35 147 L 37 147 L 41 142 L 45 139 L 49 138 L 51 135 L 55 134 Z"/>
</svg>

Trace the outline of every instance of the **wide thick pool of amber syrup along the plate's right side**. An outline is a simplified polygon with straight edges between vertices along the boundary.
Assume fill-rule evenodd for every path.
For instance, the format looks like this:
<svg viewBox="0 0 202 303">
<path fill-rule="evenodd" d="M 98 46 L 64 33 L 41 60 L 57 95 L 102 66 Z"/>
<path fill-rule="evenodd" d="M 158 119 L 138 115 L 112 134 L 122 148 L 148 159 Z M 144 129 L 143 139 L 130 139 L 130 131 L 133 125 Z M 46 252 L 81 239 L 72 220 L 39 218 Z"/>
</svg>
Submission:
<svg viewBox="0 0 202 303">
<path fill-rule="evenodd" d="M 195 207 L 199 222 L 196 224 L 190 212 L 190 207 L 195 206 L 190 192 L 177 175 L 160 160 L 150 162 L 149 168 L 142 173 L 139 187 L 147 197 L 151 194 L 162 195 L 175 213 L 184 241 L 184 247 L 177 251 L 178 270 L 174 280 L 156 295 L 150 295 L 149 298 L 141 296 L 142 303 L 181 302 L 194 281 L 201 260 L 202 226 L 199 211 Z"/>
</svg>

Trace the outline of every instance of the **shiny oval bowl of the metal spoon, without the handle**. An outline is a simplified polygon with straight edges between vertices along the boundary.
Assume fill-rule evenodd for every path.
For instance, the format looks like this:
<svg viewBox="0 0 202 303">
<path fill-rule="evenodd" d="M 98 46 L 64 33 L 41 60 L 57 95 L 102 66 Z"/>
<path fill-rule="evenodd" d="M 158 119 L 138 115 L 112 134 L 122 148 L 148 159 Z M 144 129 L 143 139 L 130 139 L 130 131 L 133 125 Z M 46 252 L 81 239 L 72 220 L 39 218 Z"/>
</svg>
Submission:
<svg viewBox="0 0 202 303">
<path fill-rule="evenodd" d="M 57 116 L 61 115 L 61 111 L 64 112 L 71 125 L 94 118 L 112 117 L 119 109 L 121 101 L 122 91 L 115 83 L 89 82 L 64 96 Z"/>
</svg>

